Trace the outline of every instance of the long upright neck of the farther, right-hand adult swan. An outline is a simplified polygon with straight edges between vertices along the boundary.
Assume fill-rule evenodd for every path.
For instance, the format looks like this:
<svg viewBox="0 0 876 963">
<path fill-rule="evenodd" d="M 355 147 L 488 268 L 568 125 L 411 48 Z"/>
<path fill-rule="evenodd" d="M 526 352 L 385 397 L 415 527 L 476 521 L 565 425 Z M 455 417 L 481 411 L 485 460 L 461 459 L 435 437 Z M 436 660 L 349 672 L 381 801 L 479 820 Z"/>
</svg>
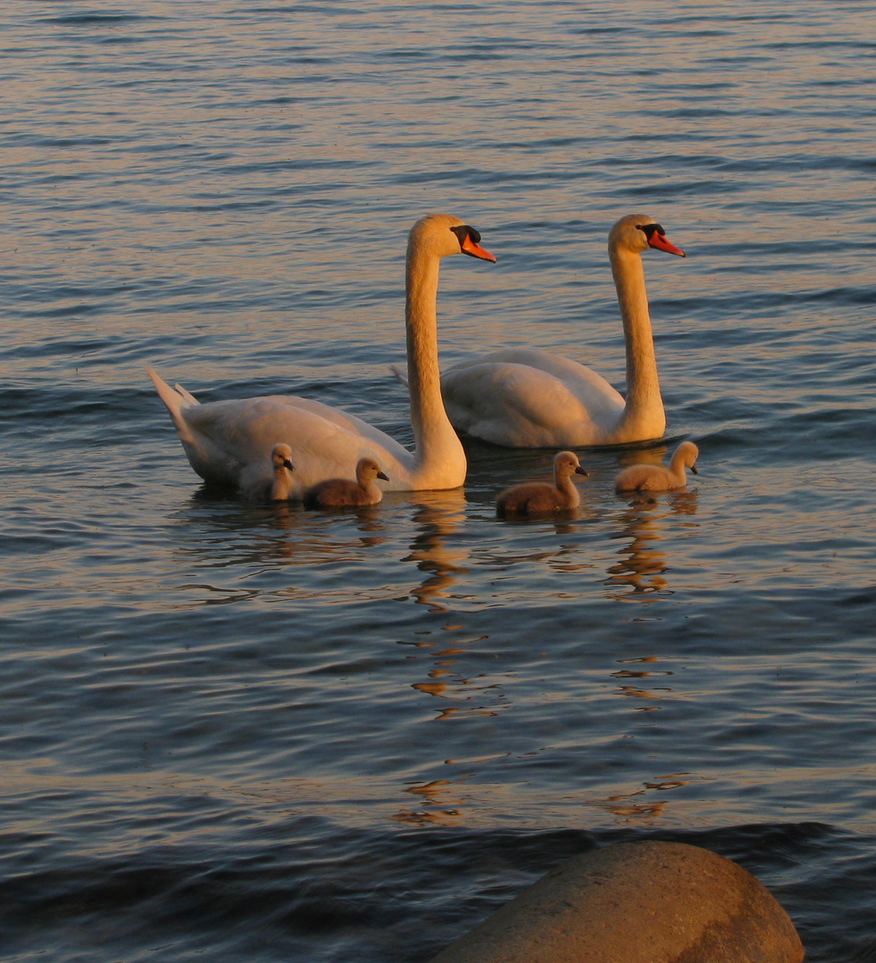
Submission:
<svg viewBox="0 0 876 963">
<path fill-rule="evenodd" d="M 634 251 L 617 249 L 611 250 L 609 257 L 627 342 L 627 403 L 622 425 L 644 432 L 637 437 L 656 438 L 666 427 L 666 416 L 657 379 L 642 258 Z"/>
</svg>

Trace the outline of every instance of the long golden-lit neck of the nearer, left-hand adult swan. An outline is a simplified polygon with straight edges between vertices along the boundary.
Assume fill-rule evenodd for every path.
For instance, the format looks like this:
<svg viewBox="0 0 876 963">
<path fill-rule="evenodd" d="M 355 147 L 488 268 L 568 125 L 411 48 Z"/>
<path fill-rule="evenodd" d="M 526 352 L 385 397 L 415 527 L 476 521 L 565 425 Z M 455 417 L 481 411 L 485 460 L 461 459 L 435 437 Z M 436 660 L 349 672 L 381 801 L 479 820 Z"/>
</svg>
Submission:
<svg viewBox="0 0 876 963">
<path fill-rule="evenodd" d="M 414 472 L 428 476 L 423 487 L 436 488 L 456 487 L 465 479 L 465 453 L 441 397 L 437 321 L 440 263 L 435 254 L 414 244 L 408 247 L 404 313 L 411 425 L 414 429 Z"/>
</svg>

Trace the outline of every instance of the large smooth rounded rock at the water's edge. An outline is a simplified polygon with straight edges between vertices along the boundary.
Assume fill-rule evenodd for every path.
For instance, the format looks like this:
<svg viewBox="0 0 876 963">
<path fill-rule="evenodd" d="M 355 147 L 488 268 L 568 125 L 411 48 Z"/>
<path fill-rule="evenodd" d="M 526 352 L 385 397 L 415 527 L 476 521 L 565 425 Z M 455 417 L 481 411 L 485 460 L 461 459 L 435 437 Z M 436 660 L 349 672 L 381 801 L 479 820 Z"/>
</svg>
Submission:
<svg viewBox="0 0 876 963">
<path fill-rule="evenodd" d="M 683 843 L 623 843 L 557 867 L 431 963 L 800 963 L 750 872 Z"/>
</svg>

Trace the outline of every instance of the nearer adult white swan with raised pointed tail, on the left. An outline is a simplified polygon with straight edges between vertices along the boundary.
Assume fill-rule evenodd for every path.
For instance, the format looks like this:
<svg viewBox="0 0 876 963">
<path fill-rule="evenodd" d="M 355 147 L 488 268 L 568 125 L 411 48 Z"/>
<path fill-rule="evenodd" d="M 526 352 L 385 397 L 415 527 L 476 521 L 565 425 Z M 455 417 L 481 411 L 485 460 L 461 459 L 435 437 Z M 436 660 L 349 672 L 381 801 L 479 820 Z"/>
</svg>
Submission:
<svg viewBox="0 0 876 963">
<path fill-rule="evenodd" d="M 170 388 L 147 369 L 194 471 L 206 481 L 241 485 L 247 466 L 264 464 L 276 439 L 283 438 L 296 467 L 298 495 L 324 479 L 353 477 L 366 456 L 380 463 L 393 491 L 461 485 L 465 453 L 441 400 L 438 267 L 449 254 L 495 261 L 479 242 L 474 227 L 447 214 L 417 221 L 408 237 L 405 325 L 413 453 L 340 408 L 287 395 L 199 404 L 185 388 Z"/>
</svg>

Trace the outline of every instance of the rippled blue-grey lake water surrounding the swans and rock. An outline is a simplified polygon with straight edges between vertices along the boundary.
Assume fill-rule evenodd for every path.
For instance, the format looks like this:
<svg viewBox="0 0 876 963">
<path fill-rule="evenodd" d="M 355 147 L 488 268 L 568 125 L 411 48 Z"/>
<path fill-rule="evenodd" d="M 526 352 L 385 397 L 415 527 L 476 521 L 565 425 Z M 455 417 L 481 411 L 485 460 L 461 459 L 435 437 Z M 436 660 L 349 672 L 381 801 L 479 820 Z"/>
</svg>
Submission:
<svg viewBox="0 0 876 963">
<path fill-rule="evenodd" d="M 876 4 L 0 4 L 4 960 L 419 961 L 562 859 L 707 846 L 812 963 L 876 954 Z M 666 445 L 570 515 L 358 512 L 193 474 L 145 376 L 410 444 L 403 256 L 442 361 L 618 387 L 643 211 Z M 687 490 L 612 479 L 683 437 Z"/>
</svg>

